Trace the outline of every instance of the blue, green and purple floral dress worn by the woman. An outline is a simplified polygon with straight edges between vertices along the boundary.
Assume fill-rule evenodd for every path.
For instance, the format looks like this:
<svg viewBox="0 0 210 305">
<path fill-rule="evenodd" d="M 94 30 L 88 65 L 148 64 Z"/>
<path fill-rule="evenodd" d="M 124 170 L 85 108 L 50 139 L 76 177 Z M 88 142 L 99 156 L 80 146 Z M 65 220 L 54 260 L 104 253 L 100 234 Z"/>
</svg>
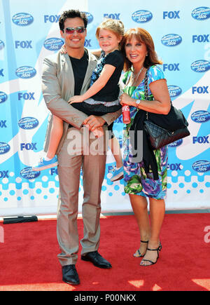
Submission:
<svg viewBox="0 0 210 305">
<path fill-rule="evenodd" d="M 123 77 L 123 83 L 128 83 L 132 72 L 126 72 Z M 158 79 L 165 79 L 162 69 L 158 66 L 152 66 L 148 69 L 148 85 Z M 130 95 L 130 97 L 138 100 L 145 100 L 144 97 L 144 80 L 139 86 L 126 86 L 124 92 Z M 153 95 L 148 86 L 148 96 L 150 100 L 153 100 Z M 130 158 L 130 145 L 129 145 L 129 130 L 134 121 L 134 116 L 137 114 L 138 109 L 136 107 L 130 107 L 131 123 L 124 125 L 123 135 L 123 166 L 124 166 L 124 187 L 125 193 L 136 194 L 139 196 L 148 196 L 155 199 L 163 199 L 166 196 L 167 191 L 167 146 L 161 149 L 154 150 L 155 158 L 158 164 L 159 179 L 153 179 L 152 170 L 146 174 L 144 170 L 144 163 L 132 163 Z"/>
</svg>

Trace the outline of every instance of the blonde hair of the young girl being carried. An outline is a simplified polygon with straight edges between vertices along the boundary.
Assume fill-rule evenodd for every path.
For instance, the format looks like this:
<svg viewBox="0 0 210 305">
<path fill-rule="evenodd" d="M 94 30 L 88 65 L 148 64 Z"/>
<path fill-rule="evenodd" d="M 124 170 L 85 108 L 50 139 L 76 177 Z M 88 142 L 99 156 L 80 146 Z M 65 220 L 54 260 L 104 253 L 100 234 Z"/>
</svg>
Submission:
<svg viewBox="0 0 210 305">
<path fill-rule="evenodd" d="M 122 38 L 124 34 L 124 25 L 120 20 L 115 20 L 111 18 L 106 18 L 104 21 L 97 27 L 95 36 L 99 39 L 99 31 L 100 29 L 109 29 L 109 31 L 113 32 L 118 36 L 118 38 Z"/>
</svg>

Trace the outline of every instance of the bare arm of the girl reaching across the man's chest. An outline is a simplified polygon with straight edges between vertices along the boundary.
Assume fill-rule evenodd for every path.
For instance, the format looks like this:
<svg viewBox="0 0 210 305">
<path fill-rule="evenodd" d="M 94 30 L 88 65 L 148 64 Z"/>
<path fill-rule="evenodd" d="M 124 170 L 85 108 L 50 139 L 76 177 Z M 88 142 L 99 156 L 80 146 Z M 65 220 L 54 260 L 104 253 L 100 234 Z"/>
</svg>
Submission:
<svg viewBox="0 0 210 305">
<path fill-rule="evenodd" d="M 87 100 L 89 97 L 92 97 L 92 95 L 95 95 L 100 90 L 102 90 L 102 88 L 104 88 L 104 86 L 106 85 L 107 81 L 109 81 L 109 79 L 111 78 L 115 69 L 116 67 L 112 65 L 104 65 L 104 68 L 102 69 L 102 72 L 97 81 L 95 81 L 83 95 L 75 95 L 71 97 L 69 100 L 70 104 L 73 104 L 75 102 L 83 102 L 83 100 Z"/>
</svg>

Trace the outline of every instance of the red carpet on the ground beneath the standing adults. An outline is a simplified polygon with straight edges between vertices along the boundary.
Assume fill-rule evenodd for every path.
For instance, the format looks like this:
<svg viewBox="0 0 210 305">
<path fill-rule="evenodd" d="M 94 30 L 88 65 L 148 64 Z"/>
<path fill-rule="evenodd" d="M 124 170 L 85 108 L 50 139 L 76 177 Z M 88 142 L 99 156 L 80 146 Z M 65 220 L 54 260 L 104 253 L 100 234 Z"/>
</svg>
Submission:
<svg viewBox="0 0 210 305">
<path fill-rule="evenodd" d="M 204 231 L 207 226 L 209 214 L 166 215 L 160 259 L 153 266 L 142 267 L 140 259 L 132 257 L 139 246 L 134 216 L 102 218 L 99 252 L 113 268 L 98 269 L 79 258 L 76 267 L 80 285 L 71 286 L 62 282 L 55 220 L 0 223 L 1 231 L 2 227 L 4 230 L 4 243 L 0 243 L 0 290 L 207 291 L 210 290 L 210 237 Z M 81 237 L 81 219 L 78 228 Z"/>
</svg>

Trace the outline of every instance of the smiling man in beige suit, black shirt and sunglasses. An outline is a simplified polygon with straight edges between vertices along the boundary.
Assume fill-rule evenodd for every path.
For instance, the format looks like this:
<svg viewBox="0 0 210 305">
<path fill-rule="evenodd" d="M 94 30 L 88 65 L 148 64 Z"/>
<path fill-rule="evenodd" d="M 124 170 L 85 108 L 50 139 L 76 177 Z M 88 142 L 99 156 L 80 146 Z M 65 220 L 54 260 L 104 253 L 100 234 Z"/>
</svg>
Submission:
<svg viewBox="0 0 210 305">
<path fill-rule="evenodd" d="M 61 36 L 66 54 L 57 53 L 43 62 L 42 88 L 45 103 L 51 113 L 64 121 L 62 140 L 57 149 L 59 175 L 59 207 L 57 212 L 57 240 L 61 253 L 62 276 L 66 283 L 80 283 L 75 264 L 78 259 L 78 189 L 80 167 L 83 168 L 83 225 L 84 236 L 81 259 L 99 268 L 111 268 L 99 252 L 101 212 L 100 194 L 106 166 L 106 139 L 92 137 L 91 130 L 106 126 L 120 116 L 113 114 L 89 116 L 68 104 L 73 95 L 85 93 L 97 59 L 84 48 L 87 34 L 87 18 L 79 11 L 65 11 L 59 18 Z M 48 149 L 50 128 L 48 125 L 45 151 Z M 84 126 L 88 125 L 90 131 Z M 99 141 L 99 143 L 95 143 Z M 91 149 L 90 149 L 91 147 Z M 98 149 L 99 148 L 99 149 Z"/>
</svg>

